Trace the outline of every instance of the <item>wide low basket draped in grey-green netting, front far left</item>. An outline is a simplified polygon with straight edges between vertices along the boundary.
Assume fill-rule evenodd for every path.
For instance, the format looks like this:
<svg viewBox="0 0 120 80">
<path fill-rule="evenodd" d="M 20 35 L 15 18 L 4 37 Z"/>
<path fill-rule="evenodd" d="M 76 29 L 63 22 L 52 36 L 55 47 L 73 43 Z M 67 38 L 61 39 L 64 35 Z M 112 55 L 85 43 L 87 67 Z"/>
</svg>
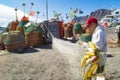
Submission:
<svg viewBox="0 0 120 80">
<path fill-rule="evenodd" d="M 9 32 L 3 33 L 1 38 L 3 39 L 5 48 L 8 51 L 13 51 L 18 48 L 26 47 L 24 36 L 20 31 L 9 31 Z"/>
</svg>

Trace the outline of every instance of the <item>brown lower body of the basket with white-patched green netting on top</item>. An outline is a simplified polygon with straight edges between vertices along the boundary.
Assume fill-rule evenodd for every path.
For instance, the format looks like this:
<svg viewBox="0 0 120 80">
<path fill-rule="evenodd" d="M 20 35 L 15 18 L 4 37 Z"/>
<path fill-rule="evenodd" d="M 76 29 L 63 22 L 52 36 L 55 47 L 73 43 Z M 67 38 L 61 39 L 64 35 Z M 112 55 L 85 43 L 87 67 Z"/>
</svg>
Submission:
<svg viewBox="0 0 120 80">
<path fill-rule="evenodd" d="M 33 31 L 25 35 L 25 43 L 29 46 L 38 46 L 43 44 L 42 33 Z"/>
</svg>

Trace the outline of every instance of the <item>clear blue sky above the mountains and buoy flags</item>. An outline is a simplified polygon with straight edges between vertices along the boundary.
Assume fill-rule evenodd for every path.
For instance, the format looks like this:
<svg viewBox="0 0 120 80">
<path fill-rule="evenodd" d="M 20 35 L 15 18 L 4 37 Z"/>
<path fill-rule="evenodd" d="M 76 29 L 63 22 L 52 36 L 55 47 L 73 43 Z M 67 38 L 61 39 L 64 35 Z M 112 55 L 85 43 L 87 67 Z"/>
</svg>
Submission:
<svg viewBox="0 0 120 80">
<path fill-rule="evenodd" d="M 34 3 L 32 10 L 34 12 L 39 11 L 39 18 L 46 20 L 46 0 L 0 0 L 0 4 L 17 8 L 21 11 L 24 11 L 23 3 L 26 4 L 26 13 L 30 11 L 31 3 Z M 89 15 L 97 9 L 120 8 L 120 0 L 48 0 L 48 18 L 53 17 L 53 10 L 61 13 L 64 18 L 65 14 L 69 15 L 70 8 L 81 9 L 83 14 L 77 14 L 77 16 L 84 16 Z"/>
</svg>

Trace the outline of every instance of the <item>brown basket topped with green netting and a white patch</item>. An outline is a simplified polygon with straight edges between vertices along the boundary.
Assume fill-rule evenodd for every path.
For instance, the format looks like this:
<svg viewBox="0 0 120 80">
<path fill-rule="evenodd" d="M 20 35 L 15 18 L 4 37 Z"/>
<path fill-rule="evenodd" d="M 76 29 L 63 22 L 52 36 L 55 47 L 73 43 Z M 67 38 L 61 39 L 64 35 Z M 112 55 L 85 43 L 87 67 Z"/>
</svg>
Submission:
<svg viewBox="0 0 120 80">
<path fill-rule="evenodd" d="M 38 46 L 43 44 L 42 30 L 34 23 L 27 23 L 24 26 L 25 42 L 28 46 Z"/>
</svg>

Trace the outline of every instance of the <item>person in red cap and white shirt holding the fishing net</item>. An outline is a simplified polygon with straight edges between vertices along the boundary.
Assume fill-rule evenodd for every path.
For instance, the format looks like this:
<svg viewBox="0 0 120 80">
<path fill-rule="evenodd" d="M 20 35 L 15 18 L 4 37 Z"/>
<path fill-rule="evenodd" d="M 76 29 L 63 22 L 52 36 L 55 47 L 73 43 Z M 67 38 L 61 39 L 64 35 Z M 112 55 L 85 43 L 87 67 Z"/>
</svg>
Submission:
<svg viewBox="0 0 120 80">
<path fill-rule="evenodd" d="M 97 73 L 102 73 L 104 71 L 104 66 L 107 57 L 107 39 L 104 32 L 104 28 L 98 25 L 96 18 L 89 17 L 86 20 L 86 27 L 90 28 L 92 31 L 92 42 L 103 52 L 101 56 L 101 61 L 98 63 Z"/>
</svg>

